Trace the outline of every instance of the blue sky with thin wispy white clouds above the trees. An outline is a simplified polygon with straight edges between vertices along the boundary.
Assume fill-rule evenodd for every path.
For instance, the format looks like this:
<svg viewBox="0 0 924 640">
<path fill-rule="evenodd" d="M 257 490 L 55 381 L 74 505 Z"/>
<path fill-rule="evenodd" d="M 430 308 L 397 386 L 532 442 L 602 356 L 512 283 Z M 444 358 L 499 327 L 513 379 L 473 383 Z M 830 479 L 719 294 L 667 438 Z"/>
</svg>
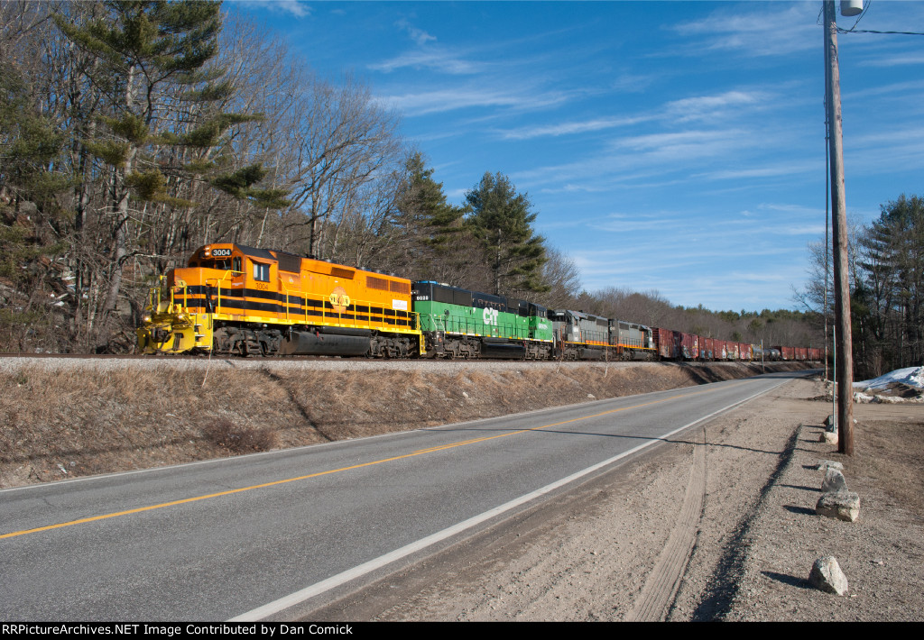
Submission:
<svg viewBox="0 0 924 640">
<path fill-rule="evenodd" d="M 866 5 L 857 29 L 924 31 L 924 2 Z M 585 288 L 796 307 L 824 235 L 821 2 L 225 7 L 365 81 L 453 202 L 508 175 Z M 924 190 L 924 36 L 838 42 L 847 211 L 868 223 Z"/>
</svg>

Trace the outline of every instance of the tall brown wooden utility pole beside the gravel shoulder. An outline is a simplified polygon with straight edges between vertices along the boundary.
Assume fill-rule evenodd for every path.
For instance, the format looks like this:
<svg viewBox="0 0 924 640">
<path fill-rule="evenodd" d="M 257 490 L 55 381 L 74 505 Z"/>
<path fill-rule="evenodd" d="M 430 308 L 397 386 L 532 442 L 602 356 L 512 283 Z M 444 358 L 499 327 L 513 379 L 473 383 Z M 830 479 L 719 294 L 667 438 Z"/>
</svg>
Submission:
<svg viewBox="0 0 924 640">
<path fill-rule="evenodd" d="M 828 66 L 827 105 L 831 150 L 831 212 L 834 256 L 834 326 L 837 378 L 837 450 L 854 454 L 854 374 L 847 272 L 847 207 L 844 191 L 844 140 L 841 127 L 841 75 L 837 66 L 837 17 L 833 0 L 824 2 L 824 53 Z"/>
</svg>

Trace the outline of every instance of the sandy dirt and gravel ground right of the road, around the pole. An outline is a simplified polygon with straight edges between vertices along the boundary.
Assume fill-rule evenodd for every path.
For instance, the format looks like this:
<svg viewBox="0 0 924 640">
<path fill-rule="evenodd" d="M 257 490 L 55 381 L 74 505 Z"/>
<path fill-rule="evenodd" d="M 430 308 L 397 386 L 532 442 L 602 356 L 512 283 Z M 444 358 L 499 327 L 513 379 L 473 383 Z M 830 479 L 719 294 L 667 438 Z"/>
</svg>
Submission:
<svg viewBox="0 0 924 640">
<path fill-rule="evenodd" d="M 558 504 L 317 614 L 924 620 L 924 407 L 857 405 L 856 454 L 847 458 L 819 441 L 831 410 L 822 394 L 819 380 L 790 382 Z M 848 488 L 860 495 L 857 522 L 814 513 L 822 478 L 813 467 L 822 459 L 844 463 Z M 848 596 L 808 585 L 812 562 L 826 555 L 844 570 Z"/>
</svg>

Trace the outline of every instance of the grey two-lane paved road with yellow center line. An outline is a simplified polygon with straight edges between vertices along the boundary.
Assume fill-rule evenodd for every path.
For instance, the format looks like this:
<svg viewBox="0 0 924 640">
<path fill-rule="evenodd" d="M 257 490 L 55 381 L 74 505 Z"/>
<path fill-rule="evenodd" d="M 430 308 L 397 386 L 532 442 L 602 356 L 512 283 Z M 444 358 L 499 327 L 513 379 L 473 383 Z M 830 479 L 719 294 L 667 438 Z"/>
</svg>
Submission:
<svg viewBox="0 0 924 640">
<path fill-rule="evenodd" d="M 0 620 L 285 615 L 804 374 L 6 489 Z"/>
</svg>

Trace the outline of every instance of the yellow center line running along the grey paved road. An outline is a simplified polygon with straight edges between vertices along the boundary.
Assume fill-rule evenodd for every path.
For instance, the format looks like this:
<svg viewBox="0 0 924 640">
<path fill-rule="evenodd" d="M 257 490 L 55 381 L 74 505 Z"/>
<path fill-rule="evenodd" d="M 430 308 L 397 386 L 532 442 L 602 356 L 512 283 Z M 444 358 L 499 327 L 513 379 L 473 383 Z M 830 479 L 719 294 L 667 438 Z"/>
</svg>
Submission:
<svg viewBox="0 0 924 640">
<path fill-rule="evenodd" d="M 736 382 L 735 384 L 728 385 L 728 386 L 737 386 L 738 384 L 742 384 L 742 383 Z M 728 386 L 724 388 L 727 389 Z M 103 515 L 93 515 L 87 518 L 80 518 L 79 520 L 71 520 L 69 522 L 58 523 L 56 525 L 46 525 L 46 526 L 39 526 L 34 529 L 24 529 L 22 531 L 13 531 L 11 533 L 0 535 L 0 540 L 6 537 L 25 536 L 26 534 L 39 533 L 40 531 L 50 531 L 52 529 L 60 529 L 61 527 L 64 527 L 64 526 L 84 525 L 84 524 L 91 523 L 91 522 L 97 522 L 99 520 L 108 520 L 109 518 L 116 518 L 121 515 L 129 515 L 131 513 L 144 513 L 146 511 L 153 511 L 155 509 L 164 509 L 164 507 L 172 507 L 172 506 L 176 506 L 177 504 L 187 504 L 188 502 L 197 502 L 201 500 L 209 500 L 210 498 L 220 498 L 221 496 L 230 496 L 230 495 L 234 495 L 235 493 L 243 493 L 244 491 L 251 491 L 253 489 L 265 489 L 267 487 L 285 485 L 289 482 L 298 482 L 298 480 L 307 480 L 310 477 L 329 476 L 331 474 L 340 473 L 343 471 L 350 471 L 351 469 L 361 469 L 364 466 L 383 465 L 384 463 L 395 462 L 395 460 L 404 460 L 405 458 L 412 458 L 418 455 L 424 455 L 426 453 L 441 452 L 441 451 L 445 451 L 446 449 L 453 449 L 455 447 L 461 447 L 467 444 L 474 444 L 476 442 L 485 442 L 485 441 L 490 441 L 490 440 L 496 440 L 498 438 L 506 438 L 507 436 L 516 436 L 520 433 L 529 433 L 529 431 L 549 429 L 550 427 L 559 427 L 561 425 L 566 425 L 572 422 L 580 422 L 581 420 L 589 420 L 590 418 L 593 418 L 593 417 L 608 416 L 610 414 L 619 413 L 620 411 L 628 411 L 629 409 L 638 409 L 643 406 L 658 405 L 661 403 L 668 402 L 670 400 L 675 400 L 677 398 L 689 397 L 691 395 L 699 395 L 699 393 L 706 393 L 706 392 L 711 392 L 711 391 L 717 391 L 717 390 L 709 389 L 709 390 L 704 390 L 704 391 L 699 391 L 699 392 L 677 393 L 667 398 L 662 398 L 661 400 L 652 400 L 651 402 L 648 402 L 648 403 L 642 403 L 640 405 L 633 405 L 633 406 L 624 406 L 619 409 L 609 409 L 607 411 L 602 411 L 599 414 L 593 414 L 591 416 L 573 417 L 568 420 L 562 420 L 561 422 L 553 422 L 552 424 L 542 425 L 541 427 L 532 427 L 531 429 L 518 429 L 516 431 L 507 431 L 506 433 L 500 433 L 500 434 L 493 435 L 493 436 L 486 436 L 484 438 L 474 438 L 472 440 L 459 441 L 459 442 L 454 442 L 452 444 L 445 444 L 445 445 L 441 445 L 437 447 L 432 447 L 430 449 L 419 449 L 412 453 L 405 453 L 403 455 L 395 455 L 391 458 L 383 458 L 382 460 L 373 460 L 371 462 L 361 463 L 359 465 L 341 466 L 337 469 L 319 471 L 318 473 L 309 474 L 307 476 L 287 477 L 286 479 L 283 479 L 283 480 L 274 480 L 273 482 L 264 482 L 259 485 L 241 487 L 240 489 L 228 489 L 227 491 L 209 493 L 207 495 L 195 496 L 193 498 L 184 498 L 183 500 L 175 500 L 175 501 L 170 501 L 170 502 L 161 502 L 159 504 L 151 504 L 149 506 L 139 507 L 137 509 L 128 509 L 126 511 L 119 511 L 115 513 L 103 513 Z"/>
</svg>

